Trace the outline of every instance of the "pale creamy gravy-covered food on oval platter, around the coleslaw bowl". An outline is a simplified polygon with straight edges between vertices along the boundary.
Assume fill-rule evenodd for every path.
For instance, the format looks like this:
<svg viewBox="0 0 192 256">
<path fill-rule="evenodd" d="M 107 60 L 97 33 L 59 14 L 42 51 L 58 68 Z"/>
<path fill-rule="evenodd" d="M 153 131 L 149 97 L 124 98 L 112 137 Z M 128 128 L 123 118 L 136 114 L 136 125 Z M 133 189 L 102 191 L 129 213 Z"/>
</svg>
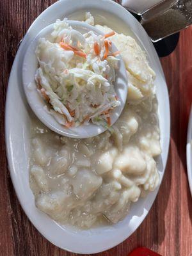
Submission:
<svg viewBox="0 0 192 256">
<path fill-rule="evenodd" d="M 129 77 L 127 104 L 111 131 L 75 140 L 42 124 L 33 127 L 30 184 L 36 207 L 80 228 L 90 228 L 101 218 L 122 220 L 132 202 L 159 184 L 155 74 L 133 38 L 116 34 L 110 40 L 122 53 Z"/>
</svg>

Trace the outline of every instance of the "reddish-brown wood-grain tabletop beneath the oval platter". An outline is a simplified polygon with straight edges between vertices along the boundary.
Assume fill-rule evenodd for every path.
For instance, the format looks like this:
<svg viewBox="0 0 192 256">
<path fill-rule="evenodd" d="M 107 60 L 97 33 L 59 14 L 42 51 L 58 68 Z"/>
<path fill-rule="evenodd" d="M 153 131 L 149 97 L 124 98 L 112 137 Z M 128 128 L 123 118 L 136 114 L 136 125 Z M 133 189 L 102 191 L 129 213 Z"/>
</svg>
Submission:
<svg viewBox="0 0 192 256">
<path fill-rule="evenodd" d="M 72 0 L 75 1 L 75 0 Z M 0 256 L 74 255 L 60 250 L 36 231 L 22 211 L 7 170 L 4 146 L 4 104 L 17 44 L 31 22 L 54 0 L 0 1 Z M 186 132 L 192 102 L 192 26 L 162 58 L 170 94 L 170 154 L 159 194 L 147 218 L 124 243 L 97 255 L 127 255 L 146 246 L 163 256 L 192 255 L 192 199 L 186 170 Z"/>
</svg>

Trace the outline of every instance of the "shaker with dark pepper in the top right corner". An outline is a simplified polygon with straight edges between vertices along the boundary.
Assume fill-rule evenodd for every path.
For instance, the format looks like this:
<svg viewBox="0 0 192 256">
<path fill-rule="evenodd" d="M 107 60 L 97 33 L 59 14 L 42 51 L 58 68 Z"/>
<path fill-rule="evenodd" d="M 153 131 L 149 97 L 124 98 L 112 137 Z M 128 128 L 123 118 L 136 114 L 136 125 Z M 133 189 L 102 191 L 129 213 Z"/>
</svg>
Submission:
<svg viewBox="0 0 192 256">
<path fill-rule="evenodd" d="M 136 0 L 134 0 L 135 3 Z M 131 0 L 127 1 L 127 10 L 132 10 Z M 122 3 L 122 1 L 118 1 Z M 139 1 L 138 1 L 139 3 Z M 137 13 L 140 15 L 140 13 Z M 150 36 L 157 42 L 166 36 L 173 35 L 192 24 L 192 0 L 164 0 L 141 13 L 140 23 Z"/>
</svg>

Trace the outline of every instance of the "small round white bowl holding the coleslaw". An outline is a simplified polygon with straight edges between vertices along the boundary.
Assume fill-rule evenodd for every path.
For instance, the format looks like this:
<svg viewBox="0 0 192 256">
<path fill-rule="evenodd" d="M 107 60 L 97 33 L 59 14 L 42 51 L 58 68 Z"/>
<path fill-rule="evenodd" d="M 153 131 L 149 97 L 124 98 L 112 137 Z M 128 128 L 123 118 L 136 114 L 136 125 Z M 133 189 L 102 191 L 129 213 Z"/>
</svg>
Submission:
<svg viewBox="0 0 192 256">
<path fill-rule="evenodd" d="M 104 35 L 99 29 L 86 24 L 85 22 L 73 21 L 68 20 L 68 24 L 72 26 L 72 28 L 78 30 L 80 33 L 87 33 L 89 31 L 95 32 L 97 35 Z M 42 37 L 46 38 L 47 40 L 51 39 L 51 33 L 53 31 L 53 24 L 46 26 L 42 29 L 38 35 L 32 40 L 31 44 L 26 51 L 24 56 L 24 63 L 22 68 L 22 80 L 24 85 L 24 91 L 26 93 L 26 97 L 28 99 L 28 103 L 33 109 L 35 115 L 54 132 L 57 132 L 63 136 L 71 137 L 71 138 L 89 138 L 96 136 L 104 131 L 106 131 L 106 127 L 98 126 L 95 124 L 88 124 L 88 125 L 79 125 L 79 127 L 72 127 L 70 129 L 64 127 L 63 125 L 59 124 L 54 116 L 48 113 L 45 109 L 45 101 L 40 97 L 39 93 L 36 90 L 36 83 L 35 83 L 35 72 L 38 68 L 38 61 L 36 58 L 35 50 L 36 45 L 38 44 L 38 40 Z M 112 51 L 118 51 L 115 45 L 112 44 Z M 118 70 L 116 70 L 116 80 L 114 84 L 116 95 L 120 100 L 120 106 L 116 107 L 113 110 L 111 115 L 111 125 L 113 125 L 122 110 L 124 109 L 124 105 L 127 99 L 127 72 L 125 69 L 124 61 L 122 60 L 121 56 L 117 56 L 119 63 L 118 63 Z"/>
</svg>

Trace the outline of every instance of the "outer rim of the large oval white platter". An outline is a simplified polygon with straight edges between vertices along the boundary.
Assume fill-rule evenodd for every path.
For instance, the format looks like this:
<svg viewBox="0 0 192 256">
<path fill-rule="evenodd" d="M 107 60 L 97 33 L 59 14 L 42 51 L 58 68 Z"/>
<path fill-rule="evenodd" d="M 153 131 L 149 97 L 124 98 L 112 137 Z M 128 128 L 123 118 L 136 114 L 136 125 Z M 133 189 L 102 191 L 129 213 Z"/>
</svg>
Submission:
<svg viewBox="0 0 192 256">
<path fill-rule="evenodd" d="M 141 222 L 145 219 L 145 217 L 147 216 L 147 213 L 150 209 L 150 207 L 152 206 L 155 198 L 156 198 L 156 195 L 157 195 L 157 192 L 159 191 L 159 188 L 156 189 L 156 191 L 154 191 L 153 193 L 151 193 L 151 196 L 148 196 L 148 200 L 150 201 L 149 202 L 149 206 L 147 208 L 147 210 L 143 213 L 143 217 L 140 218 L 140 221 L 137 222 L 137 224 L 135 225 L 134 228 L 132 228 L 132 230 L 129 230 L 129 234 L 128 232 L 124 232 L 124 234 L 119 234 L 119 236 L 116 236 L 116 240 L 115 241 L 111 241 L 110 240 L 110 243 L 103 243 L 103 244 L 100 244 L 98 245 L 97 247 L 94 248 L 94 246 L 92 245 L 91 247 L 89 248 L 86 248 L 82 246 L 82 244 L 74 244 L 71 245 L 65 245 L 63 246 L 63 244 L 58 244 L 58 242 L 54 239 L 54 237 L 50 237 L 50 234 L 47 234 L 45 232 L 45 230 L 42 230 L 42 227 L 41 225 L 38 225 L 38 223 L 36 223 L 35 219 L 33 218 L 33 216 L 31 216 L 30 212 L 28 211 L 28 207 L 27 205 L 25 205 L 25 202 L 22 200 L 22 195 L 19 191 L 19 188 L 17 187 L 17 180 L 16 180 L 16 176 L 17 173 L 15 172 L 15 166 L 13 164 L 13 157 L 12 157 L 12 141 L 10 141 L 10 116 L 9 116 L 9 104 L 11 103 L 11 90 L 12 90 L 12 79 L 13 79 L 13 76 L 15 74 L 15 72 L 17 72 L 17 65 L 18 65 L 18 61 L 19 61 L 19 58 L 20 58 L 20 55 L 21 55 L 21 51 L 24 51 L 26 49 L 26 47 L 24 47 L 25 45 L 25 42 L 27 41 L 27 39 L 29 39 L 29 33 L 31 33 L 33 31 L 34 33 L 34 30 L 33 28 L 35 28 L 38 23 L 40 22 L 40 20 L 43 20 L 43 17 L 44 15 L 49 15 L 51 10 L 56 10 L 56 8 L 59 8 L 59 6 L 62 5 L 62 3 L 68 3 L 70 4 L 70 2 L 72 2 L 71 0 L 60 0 L 54 4 L 52 4 L 51 6 L 49 6 L 49 8 L 47 8 L 44 12 L 42 12 L 37 18 L 36 20 L 33 22 L 33 24 L 31 24 L 30 28 L 28 29 L 28 32 L 26 33 L 26 35 L 24 36 L 24 39 L 22 40 L 22 43 L 20 44 L 20 47 L 19 47 L 19 50 L 17 51 L 17 55 L 15 56 L 15 60 L 13 62 L 13 67 L 12 67 L 12 71 L 11 71 L 11 74 L 10 74 L 10 79 L 8 81 L 8 90 L 7 90 L 7 95 L 6 95 L 6 110 L 5 110 L 5 138 L 6 138 L 6 155 L 7 155 L 7 158 L 8 158 L 8 168 L 10 170 L 10 175 L 11 175 L 11 178 L 12 178 L 12 182 L 13 182 L 13 186 L 15 188 L 15 191 L 16 191 L 16 194 L 17 194 L 17 198 L 19 198 L 19 202 L 20 204 L 22 205 L 22 209 L 24 209 L 24 212 L 26 213 L 26 215 L 28 216 L 29 220 L 31 221 L 31 223 L 33 223 L 33 225 L 36 227 L 36 229 L 46 238 L 48 239 L 49 241 L 51 241 L 51 243 L 55 244 L 56 246 L 64 249 L 64 250 L 67 250 L 69 252 L 75 252 L 75 253 L 98 253 L 98 252 L 103 252 L 105 250 L 108 250 L 109 248 L 112 248 L 114 246 L 116 246 L 117 244 L 119 243 L 122 243 L 125 239 L 127 239 L 127 237 L 131 236 L 131 234 L 136 230 L 136 228 L 139 227 L 139 225 L 141 224 Z M 79 1 L 80 2 L 80 1 Z M 140 36 L 144 36 L 145 38 L 145 44 L 143 43 L 142 45 L 145 45 L 145 47 L 150 47 L 151 48 L 151 51 L 153 52 L 153 56 L 151 56 L 154 61 L 157 61 L 157 64 L 159 66 L 159 72 L 161 72 L 161 76 L 162 76 L 162 79 L 164 81 L 164 84 L 166 85 L 166 82 L 165 82 L 165 79 L 164 79 L 164 74 L 163 74 L 163 69 L 161 68 L 161 63 L 159 61 L 159 59 L 157 58 L 157 54 L 156 54 L 156 51 L 154 50 L 154 47 L 152 45 L 152 42 L 150 42 L 150 39 L 148 38 L 145 30 L 141 27 L 141 25 L 139 24 L 138 20 L 136 20 L 134 17 L 132 17 L 131 13 L 127 12 L 127 10 L 125 10 L 122 6 L 120 6 L 119 4 L 113 2 L 113 1 L 110 1 L 110 0 L 97 0 L 97 1 L 90 1 L 90 0 L 84 0 L 84 1 L 81 1 L 81 3 L 79 3 L 82 7 L 83 7 L 83 4 L 84 3 L 92 3 L 93 6 L 97 6 L 97 8 L 102 8 L 104 6 L 104 4 L 108 3 L 111 8 L 115 8 L 116 12 L 119 10 L 121 13 L 121 17 L 124 17 L 125 20 L 127 20 L 127 25 L 130 25 L 128 20 L 132 21 L 133 24 L 137 24 L 136 26 L 138 27 L 138 29 L 140 30 Z M 73 2 L 74 3 L 74 2 Z M 101 4 L 102 3 L 102 4 Z M 106 4 L 106 5 L 108 5 Z M 86 7 L 86 6 L 84 6 Z M 51 22 L 50 22 L 51 23 Z M 44 26 L 46 26 L 46 22 L 44 24 Z M 32 34 L 33 34 L 32 33 Z M 134 32 L 136 35 L 137 33 Z M 140 40 L 140 36 L 139 36 L 139 40 Z M 142 42 L 143 42 L 143 39 L 142 39 Z M 147 51 L 148 52 L 148 51 Z M 166 131 L 166 148 L 164 150 L 164 154 L 163 154 L 163 161 L 164 161 L 164 167 L 163 167 L 163 173 L 164 173 L 164 169 L 165 169 L 165 165 L 166 165 L 166 161 L 167 161 L 167 157 L 168 157 L 168 148 L 169 148 L 169 143 L 170 143 L 170 108 L 169 108 L 169 99 L 168 99 L 168 90 L 166 88 L 166 86 L 164 87 L 164 90 L 166 92 L 166 95 L 164 95 L 165 97 L 165 100 L 166 100 L 166 128 L 168 131 Z M 163 178 L 163 175 L 161 176 L 161 180 Z"/>
</svg>

